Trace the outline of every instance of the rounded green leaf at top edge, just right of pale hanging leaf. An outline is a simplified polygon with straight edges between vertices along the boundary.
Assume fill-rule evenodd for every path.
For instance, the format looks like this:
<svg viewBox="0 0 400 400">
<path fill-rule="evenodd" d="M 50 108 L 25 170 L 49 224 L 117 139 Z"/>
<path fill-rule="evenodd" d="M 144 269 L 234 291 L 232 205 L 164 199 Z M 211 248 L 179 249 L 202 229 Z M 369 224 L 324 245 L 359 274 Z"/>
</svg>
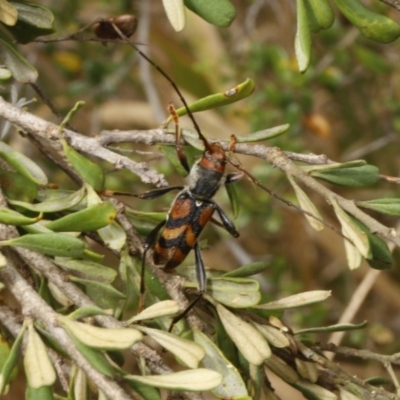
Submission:
<svg viewBox="0 0 400 400">
<path fill-rule="evenodd" d="M 184 0 L 186 7 L 210 24 L 226 28 L 236 17 L 234 5 L 228 0 Z"/>
</svg>

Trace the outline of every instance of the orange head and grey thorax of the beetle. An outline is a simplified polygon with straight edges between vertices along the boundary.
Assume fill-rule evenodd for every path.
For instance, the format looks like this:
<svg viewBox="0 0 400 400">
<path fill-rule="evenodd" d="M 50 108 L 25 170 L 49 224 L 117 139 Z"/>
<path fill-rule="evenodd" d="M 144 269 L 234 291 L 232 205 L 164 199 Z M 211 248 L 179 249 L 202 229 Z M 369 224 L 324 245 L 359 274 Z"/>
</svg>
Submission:
<svg viewBox="0 0 400 400">
<path fill-rule="evenodd" d="M 225 151 L 219 143 L 209 147 L 189 174 L 189 191 L 199 199 L 211 199 L 224 182 Z"/>
</svg>

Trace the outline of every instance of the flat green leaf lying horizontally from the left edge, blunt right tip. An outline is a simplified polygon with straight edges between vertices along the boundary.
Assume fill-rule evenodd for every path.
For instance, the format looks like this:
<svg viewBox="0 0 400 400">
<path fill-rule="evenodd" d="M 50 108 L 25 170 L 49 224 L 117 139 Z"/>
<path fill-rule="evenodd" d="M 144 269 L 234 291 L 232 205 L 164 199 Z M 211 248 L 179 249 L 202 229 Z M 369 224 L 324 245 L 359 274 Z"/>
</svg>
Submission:
<svg viewBox="0 0 400 400">
<path fill-rule="evenodd" d="M 85 249 L 81 240 L 62 233 L 28 233 L 15 239 L 3 240 L 0 245 L 23 247 L 48 256 L 72 258 L 82 257 Z"/>
</svg>

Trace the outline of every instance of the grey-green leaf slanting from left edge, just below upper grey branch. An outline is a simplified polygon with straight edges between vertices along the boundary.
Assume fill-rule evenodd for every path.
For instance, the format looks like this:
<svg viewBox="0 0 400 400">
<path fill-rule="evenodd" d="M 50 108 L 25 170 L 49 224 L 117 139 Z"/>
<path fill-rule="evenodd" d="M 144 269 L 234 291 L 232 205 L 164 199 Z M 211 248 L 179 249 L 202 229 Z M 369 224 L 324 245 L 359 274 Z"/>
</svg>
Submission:
<svg viewBox="0 0 400 400">
<path fill-rule="evenodd" d="M 46 174 L 35 162 L 2 141 L 0 141 L 0 157 L 31 181 L 38 185 L 47 185 Z"/>
</svg>

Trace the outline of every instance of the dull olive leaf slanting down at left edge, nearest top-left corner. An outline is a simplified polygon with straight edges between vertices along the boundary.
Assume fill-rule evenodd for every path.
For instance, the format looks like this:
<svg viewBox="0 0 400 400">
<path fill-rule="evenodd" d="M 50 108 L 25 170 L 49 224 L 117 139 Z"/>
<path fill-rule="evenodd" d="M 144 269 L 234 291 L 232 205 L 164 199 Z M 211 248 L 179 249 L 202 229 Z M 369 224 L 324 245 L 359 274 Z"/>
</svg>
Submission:
<svg viewBox="0 0 400 400">
<path fill-rule="evenodd" d="M 10 38 L 0 30 L 0 58 L 21 83 L 33 83 L 37 80 L 36 69 L 21 55 Z"/>
</svg>

